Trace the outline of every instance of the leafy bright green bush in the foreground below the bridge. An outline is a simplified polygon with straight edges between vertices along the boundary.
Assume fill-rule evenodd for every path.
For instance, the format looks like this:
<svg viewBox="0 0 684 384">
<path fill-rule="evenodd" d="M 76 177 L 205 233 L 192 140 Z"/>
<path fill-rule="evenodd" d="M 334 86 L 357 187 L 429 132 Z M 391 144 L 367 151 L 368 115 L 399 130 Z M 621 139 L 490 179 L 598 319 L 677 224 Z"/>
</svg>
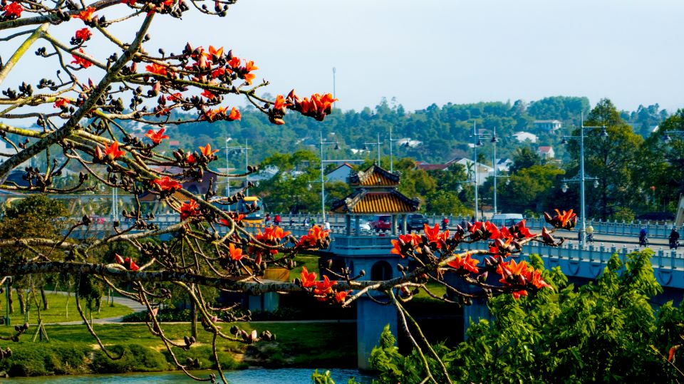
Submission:
<svg viewBox="0 0 684 384">
<path fill-rule="evenodd" d="M 553 291 L 518 300 L 499 296 L 489 301 L 492 320 L 471 323 L 467 341 L 432 348 L 458 383 L 681 380 L 674 367 L 684 370 L 684 358 L 670 365 L 663 356 L 682 342 L 684 311 L 671 302 L 660 308 L 650 302 L 662 291 L 651 256 L 648 249 L 624 260 L 614 255 L 595 282 L 579 287 L 558 267 L 545 271 Z M 531 259 L 541 267 L 539 257 Z M 371 353 L 371 366 L 380 372 L 374 383 L 420 383 L 426 373 L 419 353 L 403 356 L 394 344 L 385 328 Z M 436 360 L 425 358 L 437 383 L 445 383 Z"/>
</svg>

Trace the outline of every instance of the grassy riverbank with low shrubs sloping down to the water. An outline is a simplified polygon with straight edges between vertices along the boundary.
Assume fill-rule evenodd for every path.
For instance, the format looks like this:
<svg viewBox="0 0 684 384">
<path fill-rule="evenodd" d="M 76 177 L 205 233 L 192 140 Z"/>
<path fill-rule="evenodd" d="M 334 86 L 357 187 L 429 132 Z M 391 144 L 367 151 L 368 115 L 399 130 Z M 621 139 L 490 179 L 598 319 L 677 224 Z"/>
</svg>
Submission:
<svg viewBox="0 0 684 384">
<path fill-rule="evenodd" d="M 224 329 L 233 324 L 222 324 Z M 236 323 L 247 332 L 269 330 L 276 341 L 251 346 L 231 341 L 219 343 L 219 362 L 224 369 L 250 366 L 266 368 L 356 367 L 355 323 Z M 31 341 L 33 330 L 18 343 L 5 342 L 13 351 L 10 358 L 0 360 L 0 371 L 11 377 L 38 375 L 81 375 L 86 373 L 128 373 L 174 370 L 172 356 L 163 343 L 150 334 L 145 324 L 95 324 L 95 331 L 105 347 L 119 360 L 110 360 L 100 351 L 85 326 L 48 325 L 49 342 Z M 182 340 L 190 336 L 189 323 L 162 324 L 167 336 Z M 1 327 L 0 335 L 8 336 L 11 328 Z M 174 349 L 181 363 L 199 359 L 194 368 L 216 368 L 210 335 L 199 330 L 198 342 L 190 351 Z"/>
</svg>

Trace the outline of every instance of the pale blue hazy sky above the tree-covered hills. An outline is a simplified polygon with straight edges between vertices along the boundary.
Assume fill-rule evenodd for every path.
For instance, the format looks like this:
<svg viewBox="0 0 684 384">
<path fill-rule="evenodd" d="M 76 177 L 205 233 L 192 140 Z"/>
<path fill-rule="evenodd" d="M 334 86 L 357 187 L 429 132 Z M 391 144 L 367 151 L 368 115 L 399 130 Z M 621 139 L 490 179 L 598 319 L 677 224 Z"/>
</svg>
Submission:
<svg viewBox="0 0 684 384">
<path fill-rule="evenodd" d="M 148 51 L 233 48 L 271 94 L 331 92 L 336 67 L 343 109 L 383 96 L 415 110 L 586 95 L 673 110 L 684 107 L 683 15 L 680 0 L 239 0 L 225 18 L 157 17 Z"/>
</svg>

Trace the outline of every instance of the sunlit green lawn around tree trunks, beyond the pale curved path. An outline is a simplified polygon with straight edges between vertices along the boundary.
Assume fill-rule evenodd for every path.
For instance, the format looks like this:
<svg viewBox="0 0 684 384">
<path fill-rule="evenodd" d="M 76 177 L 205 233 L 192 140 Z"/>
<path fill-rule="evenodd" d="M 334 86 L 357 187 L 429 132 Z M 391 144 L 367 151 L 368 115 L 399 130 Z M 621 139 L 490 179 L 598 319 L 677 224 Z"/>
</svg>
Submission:
<svg viewBox="0 0 684 384">
<path fill-rule="evenodd" d="M 12 324 L 23 324 L 25 321 L 24 314 L 19 312 L 19 299 L 16 298 L 16 291 L 12 292 L 14 299 L 14 313 L 12 313 L 9 318 Z M 26 296 L 26 295 L 25 295 Z M 0 316 L 5 316 L 6 314 L 6 294 L 0 296 Z M 29 297 L 29 296 L 26 296 Z M 43 311 L 43 303 L 41 301 L 41 295 L 36 292 L 36 298 L 38 303 L 41 305 L 41 318 L 44 323 L 58 323 L 61 321 L 78 321 L 81 320 L 81 316 L 78 314 L 76 309 L 76 298 L 71 295 L 69 299 L 68 309 L 66 308 L 66 295 L 53 294 L 51 292 L 46 292 L 46 297 L 48 299 L 49 308 L 47 311 Z M 28 306 L 28 323 L 37 324 L 38 323 L 38 310 L 36 308 L 36 302 L 33 300 L 33 295 L 29 297 Z M 86 311 L 86 301 L 81 300 L 81 308 Z M 98 313 L 97 308 L 93 310 L 93 318 L 108 318 L 115 316 L 122 316 L 133 311 L 127 306 L 120 304 L 114 304 L 114 306 L 108 306 L 106 299 L 103 298 L 102 307 L 100 308 L 100 313 Z M 68 316 L 66 316 L 68 313 Z"/>
</svg>

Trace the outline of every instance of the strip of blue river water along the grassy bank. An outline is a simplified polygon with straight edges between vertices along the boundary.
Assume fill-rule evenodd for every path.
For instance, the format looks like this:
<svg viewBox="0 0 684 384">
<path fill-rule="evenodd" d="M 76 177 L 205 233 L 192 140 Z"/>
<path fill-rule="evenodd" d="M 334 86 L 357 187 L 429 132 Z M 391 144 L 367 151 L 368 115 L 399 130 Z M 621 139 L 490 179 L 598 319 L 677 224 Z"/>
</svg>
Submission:
<svg viewBox="0 0 684 384">
<path fill-rule="evenodd" d="M 326 370 L 319 369 L 318 372 Z M 229 370 L 225 373 L 230 384 L 308 384 L 311 383 L 310 368 L 281 368 L 265 369 L 254 368 L 246 370 Z M 371 383 L 371 378 L 361 375 L 354 369 L 331 369 L 331 377 L 336 384 L 346 384 L 347 380 L 355 377 L 359 383 Z M 199 376 L 199 373 L 195 373 Z M 207 378 L 208 373 L 200 377 Z M 219 380 L 220 382 L 220 380 Z M 48 384 L 171 384 L 171 383 L 198 383 L 188 378 L 182 372 L 155 372 L 155 373 L 125 373 L 120 375 L 82 375 L 82 376 L 38 376 L 33 378 L 11 378 L 2 380 L 2 383 L 48 383 Z"/>
</svg>

